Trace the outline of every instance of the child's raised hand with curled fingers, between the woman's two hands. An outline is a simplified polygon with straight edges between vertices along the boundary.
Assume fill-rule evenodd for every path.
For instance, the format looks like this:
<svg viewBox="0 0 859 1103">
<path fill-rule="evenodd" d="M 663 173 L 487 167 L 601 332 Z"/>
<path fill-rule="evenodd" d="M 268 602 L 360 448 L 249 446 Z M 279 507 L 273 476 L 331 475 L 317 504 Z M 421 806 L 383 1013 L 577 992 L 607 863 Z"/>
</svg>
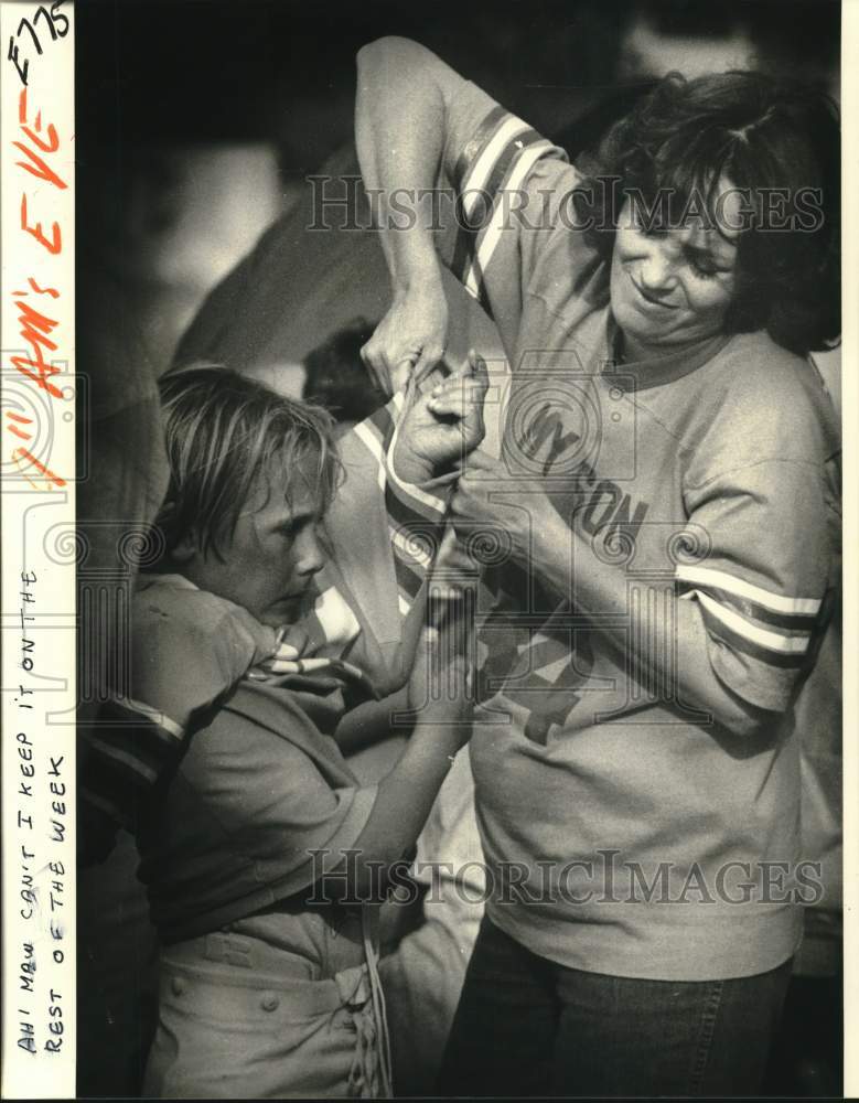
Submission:
<svg viewBox="0 0 859 1103">
<path fill-rule="evenodd" d="M 486 364 L 472 349 L 466 363 L 427 394 L 409 384 L 408 408 L 400 422 L 394 470 L 420 483 L 461 461 L 483 440 Z"/>
</svg>

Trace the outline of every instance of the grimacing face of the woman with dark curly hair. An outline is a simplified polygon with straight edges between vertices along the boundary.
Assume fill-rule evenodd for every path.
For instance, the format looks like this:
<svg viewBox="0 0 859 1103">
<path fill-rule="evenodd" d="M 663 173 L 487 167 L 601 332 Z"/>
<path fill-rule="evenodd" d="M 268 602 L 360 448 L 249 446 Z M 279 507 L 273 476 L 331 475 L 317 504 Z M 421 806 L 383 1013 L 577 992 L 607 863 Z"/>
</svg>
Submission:
<svg viewBox="0 0 859 1103">
<path fill-rule="evenodd" d="M 726 181 L 720 191 L 729 190 Z M 724 199 L 724 222 L 737 225 L 734 194 Z M 612 254 L 611 308 L 629 358 L 644 360 L 722 331 L 737 264 L 737 234 L 723 233 L 728 240 L 695 215 L 676 228 L 648 233 L 626 201 Z"/>
</svg>

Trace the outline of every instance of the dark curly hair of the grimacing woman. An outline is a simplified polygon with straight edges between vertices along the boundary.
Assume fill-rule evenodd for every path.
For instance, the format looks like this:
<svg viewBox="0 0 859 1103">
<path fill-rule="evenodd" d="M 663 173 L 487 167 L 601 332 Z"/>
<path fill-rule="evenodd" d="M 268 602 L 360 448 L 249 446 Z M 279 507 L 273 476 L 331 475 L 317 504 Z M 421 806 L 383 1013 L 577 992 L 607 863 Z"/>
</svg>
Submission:
<svg viewBox="0 0 859 1103">
<path fill-rule="evenodd" d="M 702 196 L 713 215 L 720 180 L 751 193 L 759 217 L 737 243 L 729 330 L 765 329 L 799 354 L 837 342 L 840 126 L 824 93 L 763 73 L 691 81 L 672 73 L 579 163 L 586 174 L 579 217 L 588 218 L 591 242 L 606 257 L 631 193 L 649 207 L 659 195 L 670 196 L 673 216 L 692 195 Z M 761 202 L 765 207 L 767 194 L 777 193 L 786 202 L 773 208 L 770 200 L 769 219 L 766 210 L 760 217 Z"/>
</svg>

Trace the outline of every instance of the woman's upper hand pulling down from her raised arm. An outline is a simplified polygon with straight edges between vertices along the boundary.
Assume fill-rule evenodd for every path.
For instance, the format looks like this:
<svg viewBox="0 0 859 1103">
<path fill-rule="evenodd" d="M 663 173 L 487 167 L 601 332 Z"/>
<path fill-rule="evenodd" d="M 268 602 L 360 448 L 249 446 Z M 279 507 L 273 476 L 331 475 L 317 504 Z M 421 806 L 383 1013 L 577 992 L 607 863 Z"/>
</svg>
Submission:
<svg viewBox="0 0 859 1103">
<path fill-rule="evenodd" d="M 420 383 L 444 355 L 448 344 L 448 300 L 438 261 L 421 280 L 395 291 L 394 302 L 361 350 L 376 385 L 387 395 L 410 378 Z"/>
</svg>

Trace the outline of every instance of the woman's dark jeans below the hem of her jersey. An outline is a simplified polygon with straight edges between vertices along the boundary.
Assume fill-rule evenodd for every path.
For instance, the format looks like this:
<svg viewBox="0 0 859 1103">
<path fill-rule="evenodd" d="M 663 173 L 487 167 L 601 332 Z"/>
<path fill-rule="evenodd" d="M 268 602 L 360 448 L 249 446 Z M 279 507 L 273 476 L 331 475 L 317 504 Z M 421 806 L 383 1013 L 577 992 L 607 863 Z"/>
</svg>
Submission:
<svg viewBox="0 0 859 1103">
<path fill-rule="evenodd" d="M 442 1095 L 754 1095 L 791 962 L 730 981 L 566 968 L 484 919 Z"/>
</svg>

